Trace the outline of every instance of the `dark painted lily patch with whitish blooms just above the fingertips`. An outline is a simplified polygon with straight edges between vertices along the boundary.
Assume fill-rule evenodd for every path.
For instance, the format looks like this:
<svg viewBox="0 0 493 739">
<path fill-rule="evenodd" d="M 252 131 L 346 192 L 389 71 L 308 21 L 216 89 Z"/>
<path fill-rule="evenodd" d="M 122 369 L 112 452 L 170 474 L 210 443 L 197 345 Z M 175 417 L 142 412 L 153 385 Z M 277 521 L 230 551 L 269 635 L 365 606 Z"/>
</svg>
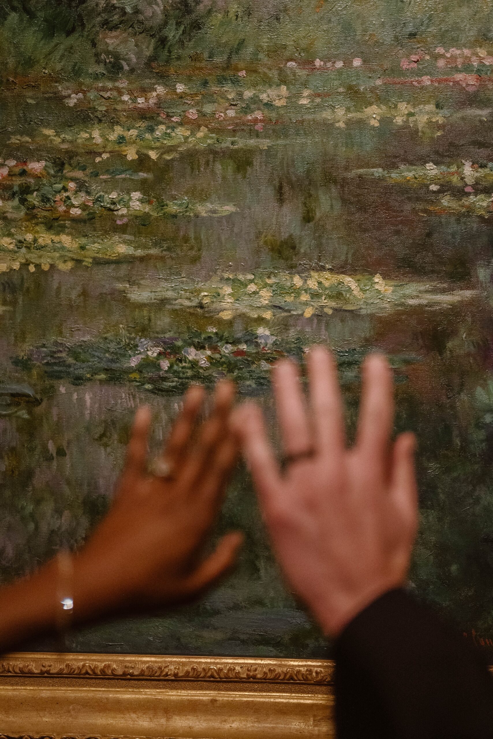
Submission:
<svg viewBox="0 0 493 739">
<path fill-rule="evenodd" d="M 181 393 L 190 384 L 212 385 L 228 377 L 240 392 L 259 392 L 270 382 L 273 363 L 289 355 L 301 360 L 313 337 L 282 339 L 265 327 L 237 336 L 211 331 L 190 331 L 186 336 L 154 338 L 103 336 L 84 341 L 51 341 L 38 344 L 14 364 L 30 371 L 42 367 L 47 378 L 68 379 L 72 384 L 89 380 L 131 382 L 157 393 Z M 339 350 L 336 356 L 345 381 L 358 375 L 366 350 Z M 402 369 L 417 357 L 392 357 L 392 366 Z"/>
</svg>

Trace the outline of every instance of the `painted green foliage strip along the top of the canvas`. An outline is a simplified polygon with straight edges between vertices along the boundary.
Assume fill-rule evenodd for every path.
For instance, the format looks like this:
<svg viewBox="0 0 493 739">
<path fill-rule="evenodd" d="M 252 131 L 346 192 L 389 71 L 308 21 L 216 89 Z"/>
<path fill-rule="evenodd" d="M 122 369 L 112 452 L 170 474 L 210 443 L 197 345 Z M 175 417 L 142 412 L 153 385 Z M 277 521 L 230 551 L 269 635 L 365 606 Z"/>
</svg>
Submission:
<svg viewBox="0 0 493 739">
<path fill-rule="evenodd" d="M 472 10 L 474 8 L 474 10 Z M 141 72 L 171 60 L 226 63 L 384 54 L 392 47 L 489 41 L 493 10 L 470 1 L 5 0 L 4 74 L 64 77 Z"/>
</svg>

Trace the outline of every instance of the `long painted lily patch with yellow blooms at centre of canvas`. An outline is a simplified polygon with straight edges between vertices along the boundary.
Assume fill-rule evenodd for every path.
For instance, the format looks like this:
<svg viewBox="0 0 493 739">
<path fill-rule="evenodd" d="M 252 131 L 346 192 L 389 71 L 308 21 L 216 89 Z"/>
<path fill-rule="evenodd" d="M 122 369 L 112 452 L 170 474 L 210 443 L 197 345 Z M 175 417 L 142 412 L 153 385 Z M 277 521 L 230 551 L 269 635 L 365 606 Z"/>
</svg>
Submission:
<svg viewBox="0 0 493 739">
<path fill-rule="evenodd" d="M 347 275 L 330 270 L 310 273 L 220 273 L 208 282 L 161 276 L 156 282 L 123 287 L 133 302 L 160 302 L 169 310 L 189 310 L 231 321 L 236 316 L 270 320 L 294 314 L 310 318 L 334 310 L 382 313 L 441 296 L 455 302 L 470 292 L 447 285 L 384 280 L 376 275 Z"/>
</svg>

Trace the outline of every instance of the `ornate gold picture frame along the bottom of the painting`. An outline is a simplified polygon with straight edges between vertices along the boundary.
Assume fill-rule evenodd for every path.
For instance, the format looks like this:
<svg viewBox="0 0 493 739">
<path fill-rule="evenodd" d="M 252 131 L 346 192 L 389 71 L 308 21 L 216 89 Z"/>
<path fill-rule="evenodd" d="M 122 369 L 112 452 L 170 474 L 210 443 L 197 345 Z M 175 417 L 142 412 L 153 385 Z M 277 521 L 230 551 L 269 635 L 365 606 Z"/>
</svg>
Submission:
<svg viewBox="0 0 493 739">
<path fill-rule="evenodd" d="M 324 739 L 333 662 L 13 653 L 0 739 Z"/>
</svg>

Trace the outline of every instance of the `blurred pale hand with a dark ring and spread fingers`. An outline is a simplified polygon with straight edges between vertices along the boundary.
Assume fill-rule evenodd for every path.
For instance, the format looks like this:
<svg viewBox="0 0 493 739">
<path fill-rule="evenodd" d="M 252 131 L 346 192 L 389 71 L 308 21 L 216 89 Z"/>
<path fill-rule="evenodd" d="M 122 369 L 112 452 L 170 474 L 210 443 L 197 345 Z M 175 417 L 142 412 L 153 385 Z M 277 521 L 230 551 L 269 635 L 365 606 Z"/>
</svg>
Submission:
<svg viewBox="0 0 493 739">
<path fill-rule="evenodd" d="M 390 443 L 392 373 L 380 355 L 364 362 L 356 444 L 347 449 L 337 367 L 322 347 L 307 355 L 309 406 L 296 364 L 279 361 L 273 387 L 282 472 L 262 412 L 234 414 L 273 548 L 288 584 L 327 635 L 407 579 L 417 527 L 415 439 Z"/>
</svg>

